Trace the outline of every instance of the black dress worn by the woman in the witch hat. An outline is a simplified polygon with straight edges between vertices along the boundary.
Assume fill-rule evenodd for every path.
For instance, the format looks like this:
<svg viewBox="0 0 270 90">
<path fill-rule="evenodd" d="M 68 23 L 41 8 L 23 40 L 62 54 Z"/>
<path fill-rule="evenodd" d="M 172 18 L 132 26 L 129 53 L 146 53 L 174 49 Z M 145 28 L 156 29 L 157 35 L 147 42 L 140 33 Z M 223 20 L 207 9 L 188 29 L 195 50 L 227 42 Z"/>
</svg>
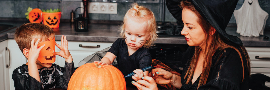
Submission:
<svg viewBox="0 0 270 90">
<path fill-rule="evenodd" d="M 183 73 L 181 76 L 182 87 L 180 90 L 196 90 L 199 84 L 198 79 L 192 84 L 189 82 L 185 84 L 187 78 L 184 79 L 185 73 L 190 65 L 191 58 L 194 54 L 195 47 L 188 47 L 182 62 L 184 64 Z M 243 54 L 241 54 L 243 55 Z M 219 58 L 220 57 L 220 58 Z M 247 63 L 244 61 L 244 67 Z M 248 89 L 248 70 L 244 68 L 244 80 L 242 63 L 238 52 L 232 48 L 226 48 L 221 51 L 216 51 L 212 57 L 212 65 L 209 72 L 206 84 L 201 85 L 198 90 L 249 90 Z"/>
</svg>

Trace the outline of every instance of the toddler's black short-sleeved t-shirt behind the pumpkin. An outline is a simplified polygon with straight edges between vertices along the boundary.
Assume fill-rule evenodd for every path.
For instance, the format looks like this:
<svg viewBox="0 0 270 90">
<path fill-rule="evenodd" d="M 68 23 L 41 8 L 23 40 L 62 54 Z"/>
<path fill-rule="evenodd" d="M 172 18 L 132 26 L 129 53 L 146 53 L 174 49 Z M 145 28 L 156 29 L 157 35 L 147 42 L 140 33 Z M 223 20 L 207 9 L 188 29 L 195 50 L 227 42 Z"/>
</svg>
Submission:
<svg viewBox="0 0 270 90">
<path fill-rule="evenodd" d="M 124 76 L 132 73 L 136 69 L 143 69 L 145 67 L 151 66 L 152 58 L 149 53 L 149 50 L 146 48 L 140 48 L 132 55 L 128 55 L 128 45 L 125 43 L 125 40 L 119 38 L 116 40 L 108 52 L 116 55 L 116 61 L 118 63 L 119 70 L 123 73 Z M 151 70 L 149 70 L 150 72 Z M 131 77 L 126 77 L 127 86 L 132 85 Z"/>
</svg>

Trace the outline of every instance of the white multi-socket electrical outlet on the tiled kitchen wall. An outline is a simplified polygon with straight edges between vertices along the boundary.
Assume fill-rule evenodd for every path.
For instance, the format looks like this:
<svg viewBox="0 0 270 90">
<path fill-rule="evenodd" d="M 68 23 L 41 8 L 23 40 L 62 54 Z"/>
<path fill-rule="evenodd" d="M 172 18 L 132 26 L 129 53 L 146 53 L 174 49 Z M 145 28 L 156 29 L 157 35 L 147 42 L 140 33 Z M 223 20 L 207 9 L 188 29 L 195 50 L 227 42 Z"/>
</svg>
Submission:
<svg viewBox="0 0 270 90">
<path fill-rule="evenodd" d="M 81 2 L 81 7 L 83 7 L 82 2 Z M 83 13 L 82 8 L 81 8 L 81 13 Z M 117 14 L 117 3 L 89 2 L 88 13 Z"/>
</svg>

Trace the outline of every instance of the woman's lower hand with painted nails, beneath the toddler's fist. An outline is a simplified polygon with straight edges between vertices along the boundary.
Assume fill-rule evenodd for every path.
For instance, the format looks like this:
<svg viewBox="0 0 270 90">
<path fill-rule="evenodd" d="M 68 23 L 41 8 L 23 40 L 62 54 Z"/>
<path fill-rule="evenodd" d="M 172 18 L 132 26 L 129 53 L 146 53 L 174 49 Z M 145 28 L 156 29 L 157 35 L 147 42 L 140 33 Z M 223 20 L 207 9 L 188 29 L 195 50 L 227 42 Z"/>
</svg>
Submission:
<svg viewBox="0 0 270 90">
<path fill-rule="evenodd" d="M 140 79 L 138 82 L 132 81 L 132 84 L 139 90 L 158 90 L 157 83 L 149 76 L 143 76 L 142 80 Z"/>
</svg>

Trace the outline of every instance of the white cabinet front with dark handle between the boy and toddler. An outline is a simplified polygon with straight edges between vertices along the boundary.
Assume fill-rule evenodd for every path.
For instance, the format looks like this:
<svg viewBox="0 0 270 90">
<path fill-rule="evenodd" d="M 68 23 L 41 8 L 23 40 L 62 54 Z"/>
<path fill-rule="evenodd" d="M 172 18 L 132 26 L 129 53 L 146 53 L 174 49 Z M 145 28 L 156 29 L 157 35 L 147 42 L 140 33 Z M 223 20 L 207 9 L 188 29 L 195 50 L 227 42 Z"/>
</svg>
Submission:
<svg viewBox="0 0 270 90">
<path fill-rule="evenodd" d="M 61 44 L 61 41 L 56 41 L 57 44 Z M 100 47 L 80 47 L 82 46 L 97 46 L 100 45 Z M 70 54 L 72 55 L 74 66 L 78 67 L 78 63 L 82 61 L 86 56 L 91 55 L 95 52 L 101 51 L 102 49 L 105 49 L 107 47 L 112 46 L 113 43 L 103 43 L 103 42 L 76 42 L 76 41 L 69 41 L 68 42 L 68 50 Z M 59 48 L 55 48 L 56 52 L 59 52 Z M 60 67 L 64 67 L 65 59 L 56 56 L 55 64 L 58 64 Z"/>
</svg>

